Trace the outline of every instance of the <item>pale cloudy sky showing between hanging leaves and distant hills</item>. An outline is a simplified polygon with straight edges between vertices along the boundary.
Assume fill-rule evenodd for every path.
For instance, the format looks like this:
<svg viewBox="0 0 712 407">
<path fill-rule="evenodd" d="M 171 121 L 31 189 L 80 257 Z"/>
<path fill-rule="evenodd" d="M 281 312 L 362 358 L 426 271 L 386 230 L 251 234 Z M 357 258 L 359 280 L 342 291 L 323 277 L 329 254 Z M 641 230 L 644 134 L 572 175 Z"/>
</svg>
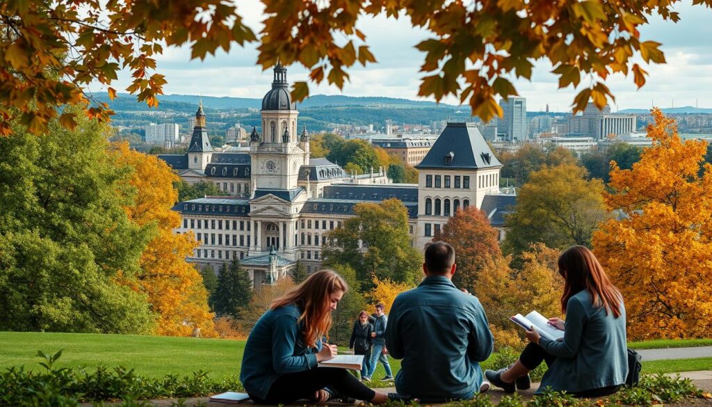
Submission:
<svg viewBox="0 0 712 407">
<path fill-rule="evenodd" d="M 689 3 L 689 1 L 687 2 Z M 663 43 L 667 63 L 644 66 L 650 75 L 646 85 L 637 91 L 631 78 L 609 77 L 607 85 L 616 96 L 612 110 L 625 108 L 650 108 L 654 103 L 663 108 L 671 105 L 696 105 L 712 108 L 712 10 L 704 6 L 686 4 L 678 6 L 681 21 L 673 24 L 651 18 L 651 24 L 641 30 L 643 41 Z M 259 31 L 263 19 L 258 0 L 240 0 L 239 13 L 248 24 Z M 367 35 L 367 44 L 377 58 L 377 63 L 366 68 L 350 69 L 350 83 L 341 91 L 335 86 L 310 85 L 311 94 L 344 94 L 348 96 L 388 96 L 419 100 L 420 64 L 424 53 L 414 45 L 427 37 L 425 31 L 412 28 L 409 19 L 364 19 L 359 28 Z M 261 98 L 270 88 L 271 70 L 262 71 L 256 66 L 255 46 L 239 48 L 230 53 L 219 52 L 205 61 L 190 61 L 187 47 L 167 48 L 158 58 L 158 71 L 168 81 L 164 93 L 204 96 L 237 96 Z M 557 79 L 545 63 L 535 66 L 532 81 L 518 81 L 515 85 L 521 96 L 527 98 L 527 110 L 565 111 L 575 96 L 571 88 L 557 89 Z M 307 71 L 301 66 L 291 66 L 288 80 L 305 80 Z M 117 90 L 125 88 L 129 76 L 120 76 Z M 97 89 L 94 89 L 97 90 Z M 456 103 L 450 99 L 446 103 Z"/>
</svg>

